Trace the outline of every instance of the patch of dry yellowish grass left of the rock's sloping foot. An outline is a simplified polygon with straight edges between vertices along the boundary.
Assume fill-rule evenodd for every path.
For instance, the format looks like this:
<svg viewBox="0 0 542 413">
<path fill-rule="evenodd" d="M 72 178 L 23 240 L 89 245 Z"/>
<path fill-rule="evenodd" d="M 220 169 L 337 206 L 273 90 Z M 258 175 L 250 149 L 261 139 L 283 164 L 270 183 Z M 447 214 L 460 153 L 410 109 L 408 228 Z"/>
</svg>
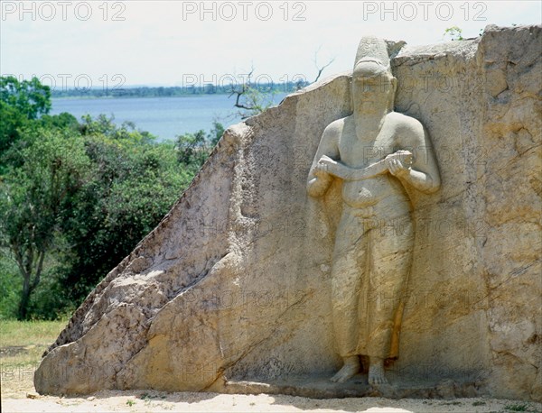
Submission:
<svg viewBox="0 0 542 413">
<path fill-rule="evenodd" d="M 33 371 L 67 321 L 0 320 L 2 396 L 33 391 Z"/>
</svg>

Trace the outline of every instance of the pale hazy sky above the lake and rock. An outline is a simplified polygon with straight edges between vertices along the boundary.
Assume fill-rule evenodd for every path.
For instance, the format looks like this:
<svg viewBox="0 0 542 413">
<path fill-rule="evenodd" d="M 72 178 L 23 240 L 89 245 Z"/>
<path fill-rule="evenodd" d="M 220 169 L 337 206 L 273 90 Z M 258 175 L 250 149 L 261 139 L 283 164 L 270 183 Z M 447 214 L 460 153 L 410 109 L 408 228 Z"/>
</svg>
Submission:
<svg viewBox="0 0 542 413">
<path fill-rule="evenodd" d="M 0 74 L 53 88 L 313 81 L 351 69 L 360 37 L 410 45 L 542 23 L 534 1 L 0 1 Z"/>
</svg>

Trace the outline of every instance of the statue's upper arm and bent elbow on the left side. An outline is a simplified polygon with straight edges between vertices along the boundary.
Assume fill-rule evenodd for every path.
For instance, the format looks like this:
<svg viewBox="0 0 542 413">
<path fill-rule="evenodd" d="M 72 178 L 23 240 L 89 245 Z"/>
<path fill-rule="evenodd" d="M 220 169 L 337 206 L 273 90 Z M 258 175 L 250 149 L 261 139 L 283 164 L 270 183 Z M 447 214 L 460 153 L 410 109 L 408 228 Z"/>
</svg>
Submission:
<svg viewBox="0 0 542 413">
<path fill-rule="evenodd" d="M 319 161 L 322 156 L 327 156 L 330 159 L 339 158 L 337 136 L 338 131 L 335 124 L 328 125 L 322 133 L 322 139 L 318 145 L 318 151 L 314 155 L 313 165 L 307 179 L 307 193 L 311 197 L 321 197 L 332 184 L 332 174 L 322 167 Z"/>
</svg>

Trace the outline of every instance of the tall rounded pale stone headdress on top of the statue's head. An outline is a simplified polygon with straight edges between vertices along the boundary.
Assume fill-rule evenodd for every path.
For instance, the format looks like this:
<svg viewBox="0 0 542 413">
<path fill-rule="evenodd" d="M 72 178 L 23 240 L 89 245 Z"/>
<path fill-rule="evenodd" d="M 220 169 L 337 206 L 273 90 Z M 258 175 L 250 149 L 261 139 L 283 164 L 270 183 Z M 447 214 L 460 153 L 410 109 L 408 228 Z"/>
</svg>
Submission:
<svg viewBox="0 0 542 413">
<path fill-rule="evenodd" d="M 356 52 L 354 76 L 373 78 L 386 73 L 391 76 L 386 41 L 373 36 L 362 37 Z"/>
</svg>

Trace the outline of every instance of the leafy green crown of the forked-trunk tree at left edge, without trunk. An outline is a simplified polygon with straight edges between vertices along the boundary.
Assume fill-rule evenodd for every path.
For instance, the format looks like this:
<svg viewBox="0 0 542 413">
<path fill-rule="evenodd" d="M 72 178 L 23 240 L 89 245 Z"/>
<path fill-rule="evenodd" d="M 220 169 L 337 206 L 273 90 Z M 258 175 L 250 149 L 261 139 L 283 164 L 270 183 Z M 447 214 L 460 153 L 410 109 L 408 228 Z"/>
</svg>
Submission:
<svg viewBox="0 0 542 413">
<path fill-rule="evenodd" d="M 61 208 L 70 206 L 89 158 L 80 138 L 58 130 L 37 133 L 39 139 L 29 137 L 29 145 L 17 153 L 22 167 L 3 177 L 0 228 L 10 245 L 42 251 L 53 242 Z"/>
</svg>

